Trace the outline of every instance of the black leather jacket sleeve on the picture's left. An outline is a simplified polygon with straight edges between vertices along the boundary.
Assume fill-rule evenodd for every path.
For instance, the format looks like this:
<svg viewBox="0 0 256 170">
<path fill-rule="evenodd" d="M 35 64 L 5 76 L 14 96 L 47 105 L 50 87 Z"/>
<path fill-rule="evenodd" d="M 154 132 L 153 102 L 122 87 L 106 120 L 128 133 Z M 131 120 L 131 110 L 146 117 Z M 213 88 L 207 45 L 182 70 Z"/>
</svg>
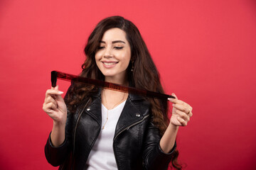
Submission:
<svg viewBox="0 0 256 170">
<path fill-rule="evenodd" d="M 68 89 L 65 98 L 67 97 L 68 92 L 70 91 L 70 88 Z M 48 140 L 46 142 L 45 146 L 45 154 L 46 159 L 48 163 L 50 163 L 53 166 L 60 166 L 65 162 L 65 159 L 67 159 L 68 155 L 71 151 L 71 140 L 72 140 L 72 123 L 73 123 L 73 113 L 70 113 L 68 111 L 67 113 L 67 120 L 65 125 L 65 140 L 62 145 L 58 147 L 54 147 L 51 140 L 50 135 L 48 137 Z"/>
</svg>

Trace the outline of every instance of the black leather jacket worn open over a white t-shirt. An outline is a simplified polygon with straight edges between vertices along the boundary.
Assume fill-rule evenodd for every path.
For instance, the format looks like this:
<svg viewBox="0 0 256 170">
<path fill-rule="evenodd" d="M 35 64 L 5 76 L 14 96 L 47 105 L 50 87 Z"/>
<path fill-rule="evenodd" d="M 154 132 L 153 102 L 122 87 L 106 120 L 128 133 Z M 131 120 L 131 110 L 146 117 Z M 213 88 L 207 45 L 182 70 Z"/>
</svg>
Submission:
<svg viewBox="0 0 256 170">
<path fill-rule="evenodd" d="M 53 147 L 46 143 L 46 159 L 59 169 L 87 169 L 87 157 L 102 125 L 100 91 L 92 103 L 81 103 L 76 113 L 68 113 L 65 141 Z M 174 148 L 164 154 L 159 147 L 159 129 L 151 123 L 150 105 L 142 97 L 129 94 L 114 133 L 113 149 L 118 169 L 167 169 Z"/>
</svg>

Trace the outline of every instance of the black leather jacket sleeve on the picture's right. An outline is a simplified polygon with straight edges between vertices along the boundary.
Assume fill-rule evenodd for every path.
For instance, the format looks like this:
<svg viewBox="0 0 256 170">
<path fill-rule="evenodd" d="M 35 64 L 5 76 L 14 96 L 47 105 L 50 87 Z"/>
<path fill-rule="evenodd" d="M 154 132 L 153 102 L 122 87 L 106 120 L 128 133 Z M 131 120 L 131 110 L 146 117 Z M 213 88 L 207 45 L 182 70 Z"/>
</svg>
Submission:
<svg viewBox="0 0 256 170">
<path fill-rule="evenodd" d="M 153 123 L 149 123 L 146 132 L 144 153 L 143 153 L 143 166 L 144 169 L 167 169 L 169 162 L 171 162 L 173 153 L 176 149 L 176 142 L 171 152 L 164 153 L 160 147 L 160 134 L 159 129 Z"/>
</svg>

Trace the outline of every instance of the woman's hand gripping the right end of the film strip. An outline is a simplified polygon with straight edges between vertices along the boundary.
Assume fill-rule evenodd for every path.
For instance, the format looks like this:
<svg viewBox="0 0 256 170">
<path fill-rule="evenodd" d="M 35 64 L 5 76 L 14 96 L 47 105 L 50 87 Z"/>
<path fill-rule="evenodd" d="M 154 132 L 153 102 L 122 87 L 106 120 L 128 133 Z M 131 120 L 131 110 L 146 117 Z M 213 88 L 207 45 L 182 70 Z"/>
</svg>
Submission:
<svg viewBox="0 0 256 170">
<path fill-rule="evenodd" d="M 172 115 L 170 123 L 176 126 L 186 126 L 190 120 L 192 114 L 192 107 L 184 101 L 178 100 L 175 94 L 172 94 L 175 98 L 168 98 L 173 103 Z"/>
</svg>

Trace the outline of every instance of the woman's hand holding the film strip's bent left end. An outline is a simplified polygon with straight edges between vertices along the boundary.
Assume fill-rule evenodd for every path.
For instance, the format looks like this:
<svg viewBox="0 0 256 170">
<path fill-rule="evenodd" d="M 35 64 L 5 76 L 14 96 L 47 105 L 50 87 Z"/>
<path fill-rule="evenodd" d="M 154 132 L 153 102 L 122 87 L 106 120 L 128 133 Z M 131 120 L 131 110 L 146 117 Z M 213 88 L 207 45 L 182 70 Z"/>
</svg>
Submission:
<svg viewBox="0 0 256 170">
<path fill-rule="evenodd" d="M 65 125 L 67 120 L 67 106 L 61 94 L 63 94 L 63 91 L 59 91 L 58 86 L 48 89 L 43 103 L 43 111 L 53 119 L 53 123 Z"/>
</svg>

